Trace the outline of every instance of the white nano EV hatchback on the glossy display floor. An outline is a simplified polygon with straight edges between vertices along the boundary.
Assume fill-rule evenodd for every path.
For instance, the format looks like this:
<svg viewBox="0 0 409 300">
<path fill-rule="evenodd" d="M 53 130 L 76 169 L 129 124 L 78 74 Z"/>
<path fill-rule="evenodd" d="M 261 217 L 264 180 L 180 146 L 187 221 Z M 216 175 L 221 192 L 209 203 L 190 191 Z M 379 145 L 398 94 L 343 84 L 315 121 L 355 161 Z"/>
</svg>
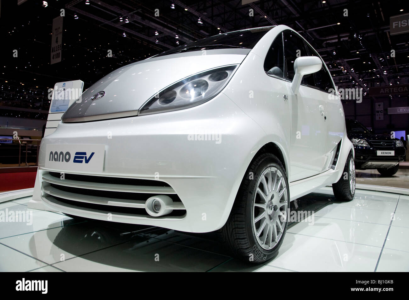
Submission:
<svg viewBox="0 0 409 300">
<path fill-rule="evenodd" d="M 223 33 L 108 74 L 40 147 L 45 204 L 70 216 L 218 231 L 274 257 L 290 201 L 355 193 L 354 149 L 318 53 L 284 25 Z"/>
</svg>

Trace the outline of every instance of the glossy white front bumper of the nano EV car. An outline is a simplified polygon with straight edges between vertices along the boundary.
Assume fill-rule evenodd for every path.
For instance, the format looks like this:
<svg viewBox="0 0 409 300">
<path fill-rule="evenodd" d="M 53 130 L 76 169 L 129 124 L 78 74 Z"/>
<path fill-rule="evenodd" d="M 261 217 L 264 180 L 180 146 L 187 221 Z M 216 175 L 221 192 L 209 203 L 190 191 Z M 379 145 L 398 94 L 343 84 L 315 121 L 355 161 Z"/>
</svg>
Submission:
<svg viewBox="0 0 409 300">
<path fill-rule="evenodd" d="M 222 93 L 182 111 L 60 123 L 41 142 L 41 199 L 46 206 L 74 216 L 187 232 L 214 231 L 225 224 L 245 171 L 263 146 L 264 135 L 256 122 Z M 103 171 L 46 167 L 49 158 L 45 151 L 53 144 L 62 149 L 64 145 L 104 145 Z M 57 177 L 50 177 L 49 172 Z M 67 174 L 65 181 L 58 178 L 63 173 Z M 95 176 L 99 183 L 87 183 L 79 176 Z M 133 179 L 142 180 L 137 193 L 130 194 L 135 195 L 136 204 L 130 203 L 129 193 L 125 200 L 121 194 L 128 191 L 126 184 Z M 153 180 L 169 189 L 149 187 Z M 104 182 L 109 183 L 104 186 Z M 184 214 L 153 217 L 141 209 L 141 201 L 169 190 L 174 191 L 171 196 L 178 198 L 176 204 Z M 99 205 L 104 201 L 105 205 Z"/>
</svg>

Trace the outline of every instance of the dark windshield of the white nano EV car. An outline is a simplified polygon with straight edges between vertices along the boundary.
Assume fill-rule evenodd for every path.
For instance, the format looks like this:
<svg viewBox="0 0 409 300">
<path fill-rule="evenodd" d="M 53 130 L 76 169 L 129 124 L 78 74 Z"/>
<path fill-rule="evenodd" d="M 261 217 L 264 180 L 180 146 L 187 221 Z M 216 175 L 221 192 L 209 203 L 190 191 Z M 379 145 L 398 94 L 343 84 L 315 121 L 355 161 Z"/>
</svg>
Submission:
<svg viewBox="0 0 409 300">
<path fill-rule="evenodd" d="M 155 57 L 169 55 L 173 53 L 209 50 L 209 49 L 233 49 L 245 48 L 252 49 L 256 43 L 274 26 L 260 27 L 253 29 L 244 29 L 228 33 L 210 36 L 193 43 L 184 44 L 182 46 L 162 52 Z"/>
</svg>

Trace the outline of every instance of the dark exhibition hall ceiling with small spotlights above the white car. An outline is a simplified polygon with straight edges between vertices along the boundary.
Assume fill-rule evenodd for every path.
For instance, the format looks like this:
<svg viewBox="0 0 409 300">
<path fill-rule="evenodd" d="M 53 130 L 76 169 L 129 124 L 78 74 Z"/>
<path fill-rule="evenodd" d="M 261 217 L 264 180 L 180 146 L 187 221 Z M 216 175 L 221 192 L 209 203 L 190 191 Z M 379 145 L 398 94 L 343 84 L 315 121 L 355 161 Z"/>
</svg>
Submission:
<svg viewBox="0 0 409 300">
<path fill-rule="evenodd" d="M 389 17 L 408 13 L 407 0 L 249 4 L 242 0 L 90 0 L 90 4 L 49 0 L 47 7 L 43 1 L 17 5 L 18 1 L 22 2 L 1 3 L 0 116 L 44 118 L 38 110 L 48 111 L 47 90 L 55 82 L 81 79 L 86 89 L 110 71 L 176 47 L 177 42 L 272 24 L 299 31 L 325 60 L 339 87 L 366 91 L 408 83 L 409 34 L 389 34 Z M 62 61 L 51 65 L 52 20 L 61 9 L 65 9 Z M 250 9 L 254 16 L 249 16 Z M 13 57 L 15 49 L 18 57 Z M 108 50 L 112 57 L 107 57 Z"/>
</svg>

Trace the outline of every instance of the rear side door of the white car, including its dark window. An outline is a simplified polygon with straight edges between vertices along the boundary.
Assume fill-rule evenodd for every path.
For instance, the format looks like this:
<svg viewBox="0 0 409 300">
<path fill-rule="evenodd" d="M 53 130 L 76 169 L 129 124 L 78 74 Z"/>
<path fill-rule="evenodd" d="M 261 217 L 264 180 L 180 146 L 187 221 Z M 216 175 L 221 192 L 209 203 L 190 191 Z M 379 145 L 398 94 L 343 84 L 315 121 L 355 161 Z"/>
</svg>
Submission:
<svg viewBox="0 0 409 300">
<path fill-rule="evenodd" d="M 317 94 L 318 101 L 321 103 L 321 108 L 324 109 L 324 121 L 326 132 L 326 144 L 324 153 L 324 171 L 329 169 L 332 165 L 333 156 L 337 144 L 344 136 L 345 116 L 339 95 L 334 87 L 334 82 L 331 75 L 317 51 L 308 42 L 306 48 L 310 56 L 317 56 L 322 61 L 322 68 L 320 71 L 311 74 L 314 78 L 314 86 L 319 91 Z"/>
</svg>

